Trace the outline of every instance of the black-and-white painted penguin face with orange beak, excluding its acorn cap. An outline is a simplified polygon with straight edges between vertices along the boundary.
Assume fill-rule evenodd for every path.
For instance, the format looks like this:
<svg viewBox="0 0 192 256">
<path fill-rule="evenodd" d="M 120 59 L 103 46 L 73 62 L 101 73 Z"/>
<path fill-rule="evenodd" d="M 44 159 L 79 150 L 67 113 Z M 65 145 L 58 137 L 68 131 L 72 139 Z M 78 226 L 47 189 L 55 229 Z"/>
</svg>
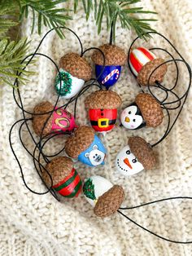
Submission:
<svg viewBox="0 0 192 256">
<path fill-rule="evenodd" d="M 142 113 L 136 104 L 131 104 L 129 107 L 124 108 L 120 114 L 120 121 L 124 128 L 134 130 L 145 126 L 145 121 L 142 118 Z"/>
</svg>

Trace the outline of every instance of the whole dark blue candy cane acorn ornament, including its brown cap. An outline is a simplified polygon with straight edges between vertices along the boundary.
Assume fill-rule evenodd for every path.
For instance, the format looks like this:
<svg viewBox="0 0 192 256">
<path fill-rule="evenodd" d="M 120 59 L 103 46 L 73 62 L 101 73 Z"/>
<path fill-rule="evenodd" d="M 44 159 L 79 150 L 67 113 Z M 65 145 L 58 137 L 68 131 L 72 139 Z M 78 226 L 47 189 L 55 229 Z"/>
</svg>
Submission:
<svg viewBox="0 0 192 256">
<path fill-rule="evenodd" d="M 95 64 L 95 74 L 98 77 L 98 82 L 107 89 L 113 86 L 120 77 L 121 66 L 126 62 L 124 50 L 115 45 L 105 44 L 95 50 L 92 55 L 92 60 Z M 103 55 L 105 56 L 105 65 L 103 66 Z"/>
</svg>

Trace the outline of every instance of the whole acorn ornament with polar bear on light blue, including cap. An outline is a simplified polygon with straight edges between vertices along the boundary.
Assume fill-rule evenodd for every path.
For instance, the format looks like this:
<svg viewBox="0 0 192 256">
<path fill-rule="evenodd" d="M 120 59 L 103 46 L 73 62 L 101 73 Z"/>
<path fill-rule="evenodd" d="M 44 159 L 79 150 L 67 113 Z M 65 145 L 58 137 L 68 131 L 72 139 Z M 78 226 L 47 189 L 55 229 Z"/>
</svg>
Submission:
<svg viewBox="0 0 192 256">
<path fill-rule="evenodd" d="M 68 157 L 78 158 L 88 166 L 104 165 L 106 148 L 94 130 L 89 126 L 78 127 L 65 143 Z"/>
</svg>

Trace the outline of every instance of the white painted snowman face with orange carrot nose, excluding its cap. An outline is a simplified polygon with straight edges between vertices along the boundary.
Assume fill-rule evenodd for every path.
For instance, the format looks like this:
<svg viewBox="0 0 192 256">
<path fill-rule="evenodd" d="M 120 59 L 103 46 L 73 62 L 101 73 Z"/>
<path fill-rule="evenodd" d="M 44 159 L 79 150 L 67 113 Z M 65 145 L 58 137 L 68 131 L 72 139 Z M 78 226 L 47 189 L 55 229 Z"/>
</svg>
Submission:
<svg viewBox="0 0 192 256">
<path fill-rule="evenodd" d="M 125 176 L 137 174 L 144 170 L 142 164 L 137 160 L 137 157 L 131 152 L 129 145 L 120 150 L 116 157 L 116 170 Z"/>
</svg>

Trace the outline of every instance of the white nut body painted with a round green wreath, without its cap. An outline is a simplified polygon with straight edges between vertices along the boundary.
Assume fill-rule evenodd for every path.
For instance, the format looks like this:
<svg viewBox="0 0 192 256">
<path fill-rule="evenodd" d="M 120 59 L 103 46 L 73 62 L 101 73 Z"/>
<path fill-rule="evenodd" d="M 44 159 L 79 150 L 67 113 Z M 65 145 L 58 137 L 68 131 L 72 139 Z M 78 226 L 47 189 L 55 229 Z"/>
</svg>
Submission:
<svg viewBox="0 0 192 256">
<path fill-rule="evenodd" d="M 55 90 L 57 94 L 61 95 L 64 99 L 70 99 L 81 90 L 84 83 L 84 80 L 73 77 L 63 68 L 60 68 L 59 73 L 55 77 Z"/>
</svg>

